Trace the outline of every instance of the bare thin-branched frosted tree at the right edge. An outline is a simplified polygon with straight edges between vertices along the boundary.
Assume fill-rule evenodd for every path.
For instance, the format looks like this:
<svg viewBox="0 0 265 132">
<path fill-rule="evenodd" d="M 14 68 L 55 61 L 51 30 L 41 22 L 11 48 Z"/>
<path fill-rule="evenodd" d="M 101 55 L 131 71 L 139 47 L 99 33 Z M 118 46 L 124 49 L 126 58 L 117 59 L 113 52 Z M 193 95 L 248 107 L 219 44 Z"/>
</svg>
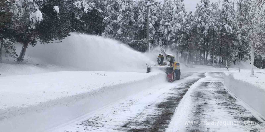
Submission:
<svg viewBox="0 0 265 132">
<path fill-rule="evenodd" d="M 231 1 L 229 11 L 237 23 L 246 32 L 248 45 L 251 50 L 251 76 L 254 75 L 254 52 L 259 52 L 264 49 L 264 22 L 265 22 L 265 1 L 262 0 L 235 0 Z M 235 11 L 235 6 L 237 11 Z"/>
</svg>

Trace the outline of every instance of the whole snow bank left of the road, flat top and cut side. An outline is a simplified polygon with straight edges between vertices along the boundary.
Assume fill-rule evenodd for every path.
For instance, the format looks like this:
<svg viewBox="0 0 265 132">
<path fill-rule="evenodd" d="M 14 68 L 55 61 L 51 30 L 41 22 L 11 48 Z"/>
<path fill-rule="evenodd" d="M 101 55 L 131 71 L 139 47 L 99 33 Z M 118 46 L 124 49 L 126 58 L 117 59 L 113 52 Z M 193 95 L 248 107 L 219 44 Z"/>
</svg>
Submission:
<svg viewBox="0 0 265 132">
<path fill-rule="evenodd" d="M 96 72 L 106 76 L 64 71 L 0 78 L 1 131 L 48 131 L 165 80 L 154 72 Z"/>
</svg>

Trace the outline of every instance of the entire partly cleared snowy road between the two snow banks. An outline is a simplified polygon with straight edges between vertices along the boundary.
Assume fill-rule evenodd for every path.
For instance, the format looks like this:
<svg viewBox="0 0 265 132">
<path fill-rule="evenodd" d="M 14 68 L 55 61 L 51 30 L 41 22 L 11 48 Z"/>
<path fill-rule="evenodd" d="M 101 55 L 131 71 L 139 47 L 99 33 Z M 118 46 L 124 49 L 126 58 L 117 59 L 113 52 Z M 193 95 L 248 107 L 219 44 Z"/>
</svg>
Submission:
<svg viewBox="0 0 265 132">
<path fill-rule="evenodd" d="M 237 123 L 223 124 L 229 121 Z M 264 119 L 223 86 L 223 73 L 198 72 L 183 73 L 179 81 L 153 86 L 51 131 L 263 132 L 264 126 Z"/>
</svg>

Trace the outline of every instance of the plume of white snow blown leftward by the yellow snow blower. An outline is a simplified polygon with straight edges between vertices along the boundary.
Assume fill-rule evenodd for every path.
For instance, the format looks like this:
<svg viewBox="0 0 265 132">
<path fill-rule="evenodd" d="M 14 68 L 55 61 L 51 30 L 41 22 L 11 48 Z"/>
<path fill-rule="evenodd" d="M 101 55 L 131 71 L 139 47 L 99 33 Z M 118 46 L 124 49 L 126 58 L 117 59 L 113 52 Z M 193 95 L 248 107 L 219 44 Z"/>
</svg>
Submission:
<svg viewBox="0 0 265 132">
<path fill-rule="evenodd" d="M 29 46 L 25 57 L 27 54 L 35 64 L 57 64 L 85 71 L 146 72 L 146 62 L 155 64 L 145 54 L 118 41 L 78 33 L 71 33 L 62 43 Z"/>
</svg>

